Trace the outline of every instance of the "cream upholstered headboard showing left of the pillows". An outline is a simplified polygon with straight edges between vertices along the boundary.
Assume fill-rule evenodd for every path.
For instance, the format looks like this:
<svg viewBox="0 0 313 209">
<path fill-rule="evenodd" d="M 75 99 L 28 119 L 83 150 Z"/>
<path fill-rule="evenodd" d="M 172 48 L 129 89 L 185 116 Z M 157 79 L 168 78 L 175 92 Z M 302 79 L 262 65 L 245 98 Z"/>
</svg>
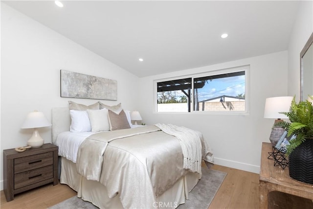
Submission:
<svg viewBox="0 0 313 209">
<path fill-rule="evenodd" d="M 51 112 L 52 143 L 55 144 L 58 134 L 69 131 L 70 115 L 68 107 L 54 107 Z"/>
</svg>

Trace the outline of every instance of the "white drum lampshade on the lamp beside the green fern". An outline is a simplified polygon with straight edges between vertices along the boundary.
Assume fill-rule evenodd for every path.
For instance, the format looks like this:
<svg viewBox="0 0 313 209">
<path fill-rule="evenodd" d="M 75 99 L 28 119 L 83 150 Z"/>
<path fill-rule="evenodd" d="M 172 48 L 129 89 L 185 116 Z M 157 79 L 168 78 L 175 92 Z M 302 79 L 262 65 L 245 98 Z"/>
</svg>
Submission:
<svg viewBox="0 0 313 209">
<path fill-rule="evenodd" d="M 292 96 L 269 97 L 265 101 L 265 118 L 288 118 L 281 112 L 289 112 Z"/>
</svg>

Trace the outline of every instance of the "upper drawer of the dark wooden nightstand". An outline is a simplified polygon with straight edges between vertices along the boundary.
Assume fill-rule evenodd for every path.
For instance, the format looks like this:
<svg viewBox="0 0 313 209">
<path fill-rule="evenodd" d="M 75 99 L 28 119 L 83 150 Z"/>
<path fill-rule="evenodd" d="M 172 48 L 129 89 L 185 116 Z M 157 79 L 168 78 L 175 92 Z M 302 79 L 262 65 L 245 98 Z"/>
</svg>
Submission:
<svg viewBox="0 0 313 209">
<path fill-rule="evenodd" d="M 14 159 L 14 173 L 32 170 L 53 164 L 53 152 Z"/>
</svg>

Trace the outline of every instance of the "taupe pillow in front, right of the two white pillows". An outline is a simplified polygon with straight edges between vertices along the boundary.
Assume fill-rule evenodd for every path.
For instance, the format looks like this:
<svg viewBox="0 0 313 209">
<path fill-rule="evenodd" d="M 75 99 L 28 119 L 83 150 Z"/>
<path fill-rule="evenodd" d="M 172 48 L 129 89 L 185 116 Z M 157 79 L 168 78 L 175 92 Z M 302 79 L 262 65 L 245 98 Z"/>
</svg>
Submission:
<svg viewBox="0 0 313 209">
<path fill-rule="evenodd" d="M 109 113 L 109 122 L 110 122 L 111 131 L 118 130 L 118 129 L 131 128 L 124 110 L 122 110 L 119 114 L 116 114 L 111 110 L 108 110 L 108 113 Z"/>
</svg>

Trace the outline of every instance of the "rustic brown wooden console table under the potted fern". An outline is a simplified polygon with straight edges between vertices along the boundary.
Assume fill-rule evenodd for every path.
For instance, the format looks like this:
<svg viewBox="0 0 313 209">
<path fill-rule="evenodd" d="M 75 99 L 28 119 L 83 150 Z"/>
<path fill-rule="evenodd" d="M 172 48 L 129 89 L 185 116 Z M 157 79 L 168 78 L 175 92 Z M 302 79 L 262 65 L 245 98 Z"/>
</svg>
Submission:
<svg viewBox="0 0 313 209">
<path fill-rule="evenodd" d="M 261 171 L 259 179 L 260 208 L 313 209 L 313 185 L 293 180 L 289 168 L 274 166 L 268 159 L 271 143 L 262 143 Z"/>
</svg>

